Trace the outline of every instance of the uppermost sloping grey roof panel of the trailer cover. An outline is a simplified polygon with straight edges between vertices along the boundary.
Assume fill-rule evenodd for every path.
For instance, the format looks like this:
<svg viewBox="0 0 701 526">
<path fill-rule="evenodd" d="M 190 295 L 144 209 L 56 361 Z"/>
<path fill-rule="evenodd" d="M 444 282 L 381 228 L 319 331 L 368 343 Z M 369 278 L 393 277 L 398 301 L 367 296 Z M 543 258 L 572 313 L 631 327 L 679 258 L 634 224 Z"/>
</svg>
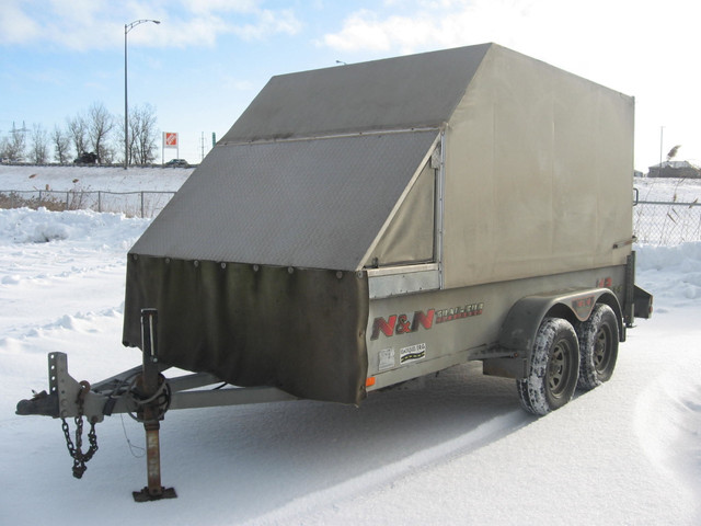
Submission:
<svg viewBox="0 0 701 526">
<path fill-rule="evenodd" d="M 441 126 L 492 47 L 273 77 L 220 144 Z"/>
</svg>

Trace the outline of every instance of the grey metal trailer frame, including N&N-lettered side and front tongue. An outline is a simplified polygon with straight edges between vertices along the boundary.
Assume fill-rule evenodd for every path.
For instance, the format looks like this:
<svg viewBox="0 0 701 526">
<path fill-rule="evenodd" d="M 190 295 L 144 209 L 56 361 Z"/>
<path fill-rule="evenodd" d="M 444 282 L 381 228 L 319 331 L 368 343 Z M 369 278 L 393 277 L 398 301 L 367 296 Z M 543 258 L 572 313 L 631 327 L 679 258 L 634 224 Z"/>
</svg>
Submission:
<svg viewBox="0 0 701 526">
<path fill-rule="evenodd" d="M 607 287 L 571 288 L 520 297 L 508 309 L 505 317 L 499 315 L 498 309 L 494 310 L 496 316 L 491 318 L 494 318 L 494 323 L 498 323 L 498 338 L 489 343 L 478 342 L 485 334 L 490 334 L 490 325 L 493 323 L 486 323 L 486 332 L 479 330 L 475 332 L 469 323 L 464 323 L 463 327 L 461 323 L 485 316 L 485 305 L 489 305 L 491 299 L 460 305 L 456 308 L 450 307 L 438 313 L 435 309 L 429 309 L 428 313 L 423 310 L 412 312 L 409 309 L 406 311 L 411 312 L 411 319 L 407 315 L 393 315 L 390 317 L 393 320 L 391 322 L 382 317 L 370 318 L 372 321 L 369 323 L 372 327 L 368 327 L 369 339 L 379 345 L 368 345 L 370 365 L 366 388 L 371 392 L 470 361 L 482 361 L 485 375 L 524 380 L 531 374 L 531 352 L 542 320 L 547 317 L 556 317 L 566 319 L 576 327 L 577 323 L 585 322 L 595 306 L 600 304 L 613 310 L 620 341 L 624 341 L 625 329 L 633 327 L 634 317 L 648 318 L 652 312 L 652 296 L 633 285 L 633 276 L 634 253 L 622 268 L 600 268 L 558 276 L 555 283 L 596 278 L 599 284 Z M 383 276 L 380 274 L 376 277 Z M 402 286 L 405 285 L 402 275 L 398 275 L 397 279 Z M 620 285 L 619 279 L 622 279 Z M 484 298 L 497 298 L 503 297 L 504 293 L 510 289 L 512 293 L 506 294 L 506 301 L 512 301 L 509 298 L 518 297 L 522 290 L 542 286 L 542 283 L 532 283 L 532 279 L 522 282 L 468 287 L 464 290 L 453 291 L 452 296 L 457 294 L 456 297 L 460 298 L 473 297 L 472 295 L 479 294 L 480 289 L 483 289 L 483 293 L 492 289 L 491 294 L 486 293 Z M 619 302 L 619 296 L 624 298 L 623 307 Z M 410 304 L 420 306 L 444 298 L 449 301 L 446 291 L 428 291 L 386 299 L 389 299 L 388 305 L 394 311 L 399 311 L 398 309 L 401 310 L 407 305 L 407 298 Z M 378 308 L 379 311 L 381 310 Z M 455 331 L 449 336 L 429 334 L 434 323 L 435 327 L 446 323 L 445 327 L 460 328 L 457 334 L 471 338 L 466 340 L 468 343 L 461 351 L 425 359 L 427 345 L 434 345 L 436 341 L 439 342 L 446 338 L 459 338 L 459 335 L 456 336 Z M 68 356 L 65 353 L 50 353 L 48 355 L 48 393 L 46 391 L 36 393 L 31 400 L 21 400 L 16 407 L 16 413 L 21 415 L 38 414 L 61 419 L 68 449 L 73 457 L 73 476 L 77 478 L 82 477 L 85 464 L 96 450 L 94 427 L 96 423 L 104 420 L 104 416 L 128 413 L 135 420 L 142 422 L 146 432 L 147 485 L 140 491 L 133 492 L 136 502 L 177 496 L 173 488 L 161 485 L 159 428 L 166 411 L 299 400 L 298 397 L 275 387 L 227 387 L 226 382 L 206 373 L 165 378 L 162 373 L 170 366 L 159 362 L 157 324 L 158 312 L 154 309 L 143 309 L 141 312 L 142 365 L 92 386 L 70 375 Z M 387 339 L 394 336 L 405 339 L 395 350 L 395 346 L 387 343 L 387 339 L 379 341 L 380 334 Z M 206 387 L 209 388 L 204 389 Z M 74 445 L 66 422 L 66 419 L 71 418 L 74 419 L 77 427 Z M 88 434 L 91 446 L 85 453 L 81 450 L 83 419 L 91 425 Z"/>
</svg>

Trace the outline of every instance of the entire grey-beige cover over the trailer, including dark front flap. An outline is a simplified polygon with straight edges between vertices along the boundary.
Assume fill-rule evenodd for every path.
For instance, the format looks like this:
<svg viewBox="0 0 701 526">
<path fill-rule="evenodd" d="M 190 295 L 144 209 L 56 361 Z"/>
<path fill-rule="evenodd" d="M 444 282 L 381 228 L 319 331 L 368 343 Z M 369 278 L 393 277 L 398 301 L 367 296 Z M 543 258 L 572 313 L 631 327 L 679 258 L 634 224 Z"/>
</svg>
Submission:
<svg viewBox="0 0 701 526">
<path fill-rule="evenodd" d="M 377 300 L 625 265 L 632 118 L 495 44 L 274 77 L 130 250 L 124 343 L 154 308 L 164 364 L 358 403 Z"/>
</svg>

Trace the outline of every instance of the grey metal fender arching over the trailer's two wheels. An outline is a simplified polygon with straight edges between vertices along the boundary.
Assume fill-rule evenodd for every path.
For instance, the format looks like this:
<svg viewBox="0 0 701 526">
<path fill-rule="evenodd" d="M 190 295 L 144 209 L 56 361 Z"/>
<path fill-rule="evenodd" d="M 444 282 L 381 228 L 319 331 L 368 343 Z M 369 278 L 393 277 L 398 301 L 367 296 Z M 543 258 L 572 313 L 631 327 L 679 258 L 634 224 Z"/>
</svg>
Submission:
<svg viewBox="0 0 701 526">
<path fill-rule="evenodd" d="M 514 304 L 499 331 L 498 346 L 509 352 L 512 357 L 485 359 L 484 373 L 525 378 L 529 373 L 530 353 L 542 320 L 548 317 L 563 318 L 575 325 L 591 316 L 596 304 L 605 304 L 613 309 L 620 340 L 624 341 L 625 329 L 621 306 L 616 295 L 608 288 L 527 296 Z"/>
</svg>

